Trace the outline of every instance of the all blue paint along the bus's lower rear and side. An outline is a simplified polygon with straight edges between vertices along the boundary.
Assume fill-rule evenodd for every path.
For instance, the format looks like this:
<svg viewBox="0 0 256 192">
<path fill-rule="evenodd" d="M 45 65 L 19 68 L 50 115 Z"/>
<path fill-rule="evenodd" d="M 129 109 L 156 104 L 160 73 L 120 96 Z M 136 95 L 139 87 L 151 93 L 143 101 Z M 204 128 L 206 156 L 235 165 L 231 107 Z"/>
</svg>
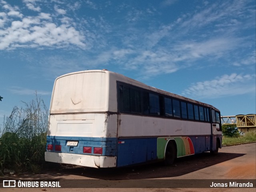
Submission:
<svg viewBox="0 0 256 192">
<path fill-rule="evenodd" d="M 194 152 L 200 153 L 210 150 L 210 135 L 209 136 L 188 136 L 193 145 Z M 175 138 L 175 137 L 174 137 Z M 77 146 L 67 146 L 68 141 L 78 141 Z M 102 147 L 102 156 L 117 156 L 117 167 L 138 164 L 151 160 L 157 160 L 157 137 L 149 138 L 106 138 L 106 137 L 62 137 L 62 136 L 47 136 L 47 145 L 61 145 L 61 151 L 74 154 L 83 153 L 83 147 Z M 179 150 L 179 149 L 178 149 Z"/>
</svg>

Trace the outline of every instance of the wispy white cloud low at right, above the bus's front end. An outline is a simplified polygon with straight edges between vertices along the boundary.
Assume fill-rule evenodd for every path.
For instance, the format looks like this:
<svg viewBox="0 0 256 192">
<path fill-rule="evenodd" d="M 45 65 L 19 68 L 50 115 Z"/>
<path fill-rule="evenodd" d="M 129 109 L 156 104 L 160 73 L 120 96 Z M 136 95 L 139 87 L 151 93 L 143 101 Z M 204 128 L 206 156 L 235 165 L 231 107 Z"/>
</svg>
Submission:
<svg viewBox="0 0 256 192">
<path fill-rule="evenodd" d="M 233 95 L 243 95 L 256 91 L 256 75 L 222 75 L 210 81 L 192 83 L 182 95 L 199 98 L 218 98 Z"/>
</svg>

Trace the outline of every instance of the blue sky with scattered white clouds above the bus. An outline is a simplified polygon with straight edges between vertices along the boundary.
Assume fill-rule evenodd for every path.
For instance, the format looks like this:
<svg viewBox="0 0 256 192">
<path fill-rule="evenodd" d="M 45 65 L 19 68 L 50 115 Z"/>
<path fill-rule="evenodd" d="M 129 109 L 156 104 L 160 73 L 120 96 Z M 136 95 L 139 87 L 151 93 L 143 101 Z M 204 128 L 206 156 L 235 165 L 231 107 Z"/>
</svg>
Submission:
<svg viewBox="0 0 256 192">
<path fill-rule="evenodd" d="M 0 0 L 0 125 L 88 69 L 255 114 L 255 46 L 255 0 Z"/>
</svg>

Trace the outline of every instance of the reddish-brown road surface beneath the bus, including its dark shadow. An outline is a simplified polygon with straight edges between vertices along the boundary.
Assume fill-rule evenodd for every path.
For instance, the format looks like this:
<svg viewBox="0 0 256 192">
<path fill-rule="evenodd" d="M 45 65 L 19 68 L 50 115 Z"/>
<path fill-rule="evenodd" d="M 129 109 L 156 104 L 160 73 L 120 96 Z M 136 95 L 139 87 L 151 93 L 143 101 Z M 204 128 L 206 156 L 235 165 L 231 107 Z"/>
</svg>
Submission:
<svg viewBox="0 0 256 192">
<path fill-rule="evenodd" d="M 21 177 L 21 176 L 20 176 Z M 75 179 L 70 184 L 70 189 L 52 189 L 46 188 L 48 192 L 106 192 L 106 191 L 120 191 L 120 192 L 165 192 L 165 191 L 218 191 L 218 192 L 240 192 L 240 188 L 71 188 L 77 183 L 81 184 L 81 179 L 94 179 L 91 183 L 86 183 L 88 186 L 95 186 L 95 181 L 99 182 L 102 187 L 132 185 L 145 186 L 148 185 L 148 179 L 152 185 L 166 184 L 173 182 L 183 185 L 195 181 L 196 184 L 201 185 L 202 182 L 192 179 L 208 179 L 215 181 L 215 179 L 253 179 L 256 180 L 256 143 L 242 144 L 236 146 L 223 147 L 219 150 L 216 156 L 211 156 L 210 153 L 205 152 L 198 155 L 179 158 L 173 166 L 163 166 L 161 163 L 116 169 L 94 169 L 82 167 L 65 167 L 55 169 L 54 171 L 47 170 L 42 174 L 24 174 L 22 178 L 42 178 L 42 179 Z M 78 180 L 79 179 L 79 180 Z M 156 180 L 158 179 L 158 180 Z M 186 180 L 188 179 L 188 180 Z M 106 181 L 108 180 L 108 181 Z M 63 180 L 60 180 L 63 183 Z M 159 182 L 158 182 L 159 181 Z M 183 182 L 186 181 L 186 182 Z M 128 183 L 127 183 L 128 182 Z M 182 183 L 183 182 L 183 183 Z M 205 182 L 205 181 L 203 181 Z M 67 183 L 65 183 L 67 184 Z M 174 183 L 175 184 L 175 183 Z M 195 186 L 195 183 L 194 185 Z M 1 190 L 1 189 L 0 189 Z M 34 192 L 41 191 L 44 188 L 15 188 L 5 189 L 6 192 Z M 246 192 L 255 192 L 255 188 L 246 188 Z"/>
</svg>

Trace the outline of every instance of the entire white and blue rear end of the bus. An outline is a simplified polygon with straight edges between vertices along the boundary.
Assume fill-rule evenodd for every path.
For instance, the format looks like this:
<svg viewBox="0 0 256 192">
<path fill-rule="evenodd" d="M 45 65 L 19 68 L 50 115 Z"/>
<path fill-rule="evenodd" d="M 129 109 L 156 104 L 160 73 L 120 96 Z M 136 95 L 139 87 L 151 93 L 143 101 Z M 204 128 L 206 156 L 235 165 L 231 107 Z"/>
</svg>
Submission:
<svg viewBox="0 0 256 192">
<path fill-rule="evenodd" d="M 109 114 L 108 75 L 71 73 L 56 79 L 45 160 L 89 167 L 115 167 L 116 119 Z"/>
</svg>

